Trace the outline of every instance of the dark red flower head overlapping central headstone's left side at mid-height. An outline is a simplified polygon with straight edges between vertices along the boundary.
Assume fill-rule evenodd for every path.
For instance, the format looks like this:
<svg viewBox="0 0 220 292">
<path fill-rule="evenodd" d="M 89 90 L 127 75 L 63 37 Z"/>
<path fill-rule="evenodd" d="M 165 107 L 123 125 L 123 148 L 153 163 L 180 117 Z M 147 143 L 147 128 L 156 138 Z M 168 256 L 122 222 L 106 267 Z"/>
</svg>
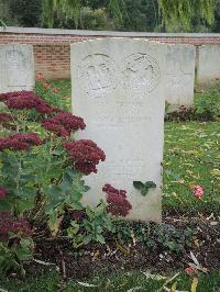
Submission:
<svg viewBox="0 0 220 292">
<path fill-rule="evenodd" d="M 75 162 L 76 170 L 86 176 L 91 172 L 97 172 L 99 161 L 105 161 L 105 153 L 97 146 L 96 143 L 89 139 L 79 139 L 66 142 L 65 148 L 70 155 L 70 159 Z"/>
</svg>

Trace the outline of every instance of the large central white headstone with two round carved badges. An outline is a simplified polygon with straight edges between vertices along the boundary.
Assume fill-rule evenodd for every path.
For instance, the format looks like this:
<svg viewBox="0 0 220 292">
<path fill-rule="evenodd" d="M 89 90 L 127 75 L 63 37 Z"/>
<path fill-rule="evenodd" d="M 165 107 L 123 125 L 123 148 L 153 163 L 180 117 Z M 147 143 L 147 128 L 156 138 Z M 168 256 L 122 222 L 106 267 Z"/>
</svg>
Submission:
<svg viewBox="0 0 220 292">
<path fill-rule="evenodd" d="M 105 183 L 128 191 L 131 220 L 161 221 L 166 45 L 144 40 L 105 38 L 72 45 L 73 112 L 107 156 L 86 177 L 86 203 L 105 198 Z M 154 181 L 146 196 L 133 181 Z"/>
</svg>

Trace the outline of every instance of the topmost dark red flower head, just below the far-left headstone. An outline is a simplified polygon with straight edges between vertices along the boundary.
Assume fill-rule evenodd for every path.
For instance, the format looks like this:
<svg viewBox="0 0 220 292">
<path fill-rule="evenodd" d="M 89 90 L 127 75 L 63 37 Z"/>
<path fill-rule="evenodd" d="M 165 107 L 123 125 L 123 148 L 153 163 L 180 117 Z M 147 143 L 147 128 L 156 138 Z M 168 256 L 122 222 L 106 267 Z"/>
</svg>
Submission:
<svg viewBox="0 0 220 292">
<path fill-rule="evenodd" d="M 44 100 L 38 98 L 33 91 L 15 91 L 1 93 L 0 101 L 3 101 L 9 109 L 35 109 L 37 112 L 43 114 L 48 114 L 53 112 L 53 108 Z"/>
</svg>

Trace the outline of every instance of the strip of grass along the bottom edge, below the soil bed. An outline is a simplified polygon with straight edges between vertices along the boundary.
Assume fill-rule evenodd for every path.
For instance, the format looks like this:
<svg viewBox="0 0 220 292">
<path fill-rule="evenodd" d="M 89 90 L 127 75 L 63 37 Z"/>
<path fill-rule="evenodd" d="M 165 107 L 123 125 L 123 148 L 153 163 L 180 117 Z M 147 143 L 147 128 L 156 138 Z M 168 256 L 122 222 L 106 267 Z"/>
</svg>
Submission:
<svg viewBox="0 0 220 292">
<path fill-rule="evenodd" d="M 162 289 L 166 281 L 173 278 L 175 273 L 163 279 L 158 274 L 148 276 L 147 271 L 120 272 L 114 274 L 99 274 L 92 279 L 82 279 L 79 281 L 65 282 L 56 271 L 38 273 L 28 277 L 25 280 L 10 281 L 0 279 L 0 289 L 11 292 L 132 292 L 145 291 L 156 292 Z M 194 277 L 184 272 L 179 273 L 173 281 L 166 284 L 168 289 L 177 282 L 178 291 L 191 291 Z M 1 290 L 0 290 L 1 291 Z M 162 292 L 165 290 L 161 290 Z M 176 290 L 173 290 L 176 291 Z M 198 276 L 197 292 L 219 292 L 220 272 Z"/>
</svg>

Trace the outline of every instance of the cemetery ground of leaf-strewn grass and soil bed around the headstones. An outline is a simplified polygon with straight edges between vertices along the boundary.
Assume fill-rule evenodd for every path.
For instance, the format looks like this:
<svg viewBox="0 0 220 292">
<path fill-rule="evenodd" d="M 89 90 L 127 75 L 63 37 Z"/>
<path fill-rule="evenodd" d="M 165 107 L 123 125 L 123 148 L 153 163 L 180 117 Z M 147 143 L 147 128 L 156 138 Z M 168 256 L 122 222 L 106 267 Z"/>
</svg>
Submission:
<svg viewBox="0 0 220 292">
<path fill-rule="evenodd" d="M 1 289 L 220 291 L 220 85 L 196 91 L 197 113 L 184 109 L 165 123 L 163 231 L 121 222 L 117 238 L 78 251 L 67 240 L 38 238 L 40 261 L 25 267 L 26 279 L 1 278 Z M 69 110 L 68 80 L 37 85 L 37 92 Z M 195 186 L 205 190 L 201 199 L 195 198 Z"/>
</svg>

